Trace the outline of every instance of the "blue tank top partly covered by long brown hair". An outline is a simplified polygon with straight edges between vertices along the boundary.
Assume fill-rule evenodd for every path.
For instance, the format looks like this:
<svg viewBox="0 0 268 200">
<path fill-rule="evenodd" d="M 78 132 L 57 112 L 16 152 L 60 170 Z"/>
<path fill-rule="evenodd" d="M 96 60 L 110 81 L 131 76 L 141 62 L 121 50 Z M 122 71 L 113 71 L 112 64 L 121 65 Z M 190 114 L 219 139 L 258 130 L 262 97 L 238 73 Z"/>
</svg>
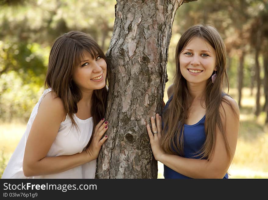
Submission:
<svg viewBox="0 0 268 200">
<path fill-rule="evenodd" d="M 168 100 L 167 104 L 164 107 L 164 110 L 168 108 L 168 105 L 172 97 L 173 96 L 171 96 L 171 98 Z M 203 146 L 206 140 L 205 119 L 206 119 L 206 115 L 204 115 L 203 118 L 200 119 L 200 121 L 194 125 L 184 124 L 184 132 L 183 132 L 184 156 L 183 157 L 200 159 L 201 156 L 196 156 L 196 157 L 193 157 L 193 156 L 195 156 L 196 152 L 198 152 L 199 149 L 201 149 L 201 147 Z M 162 127 L 164 128 L 163 122 L 162 122 Z M 164 165 L 164 177 L 165 178 L 190 178 L 170 169 L 169 167 L 165 165 Z M 223 178 L 228 178 L 228 174 L 226 173 Z"/>
</svg>

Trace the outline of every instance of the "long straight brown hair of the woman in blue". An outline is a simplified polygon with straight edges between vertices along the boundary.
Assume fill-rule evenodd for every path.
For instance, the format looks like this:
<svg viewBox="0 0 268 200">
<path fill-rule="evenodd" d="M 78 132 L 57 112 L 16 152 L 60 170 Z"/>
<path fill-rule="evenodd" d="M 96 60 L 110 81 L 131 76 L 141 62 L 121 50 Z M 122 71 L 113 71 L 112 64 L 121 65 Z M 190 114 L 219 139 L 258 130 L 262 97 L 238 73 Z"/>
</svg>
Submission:
<svg viewBox="0 0 268 200">
<path fill-rule="evenodd" d="M 212 25 L 194 25 L 182 34 L 176 47 L 176 75 L 174 80 L 174 94 L 169 107 L 163 114 L 164 135 L 162 139 L 163 149 L 171 154 L 184 155 L 183 151 L 183 132 L 185 119 L 189 117 L 189 107 L 191 105 L 190 94 L 187 88 L 186 79 L 180 71 L 179 55 L 193 37 L 201 37 L 206 40 L 216 51 L 217 78 L 212 83 L 211 77 L 207 80 L 205 89 L 205 133 L 206 140 L 195 156 L 210 160 L 215 149 L 216 126 L 220 129 L 224 137 L 225 147 L 229 160 L 231 160 L 230 146 L 225 135 L 225 127 L 220 118 L 219 108 L 222 102 L 231 103 L 222 98 L 224 83 L 227 82 L 229 92 L 229 82 L 226 73 L 226 50 L 224 42 L 217 29 Z M 213 72 L 214 74 L 215 72 Z M 213 75 L 212 74 L 212 75 Z M 234 108 L 231 106 L 234 114 Z M 237 116 L 238 117 L 238 116 Z M 195 157 L 194 156 L 194 157 Z"/>
</svg>

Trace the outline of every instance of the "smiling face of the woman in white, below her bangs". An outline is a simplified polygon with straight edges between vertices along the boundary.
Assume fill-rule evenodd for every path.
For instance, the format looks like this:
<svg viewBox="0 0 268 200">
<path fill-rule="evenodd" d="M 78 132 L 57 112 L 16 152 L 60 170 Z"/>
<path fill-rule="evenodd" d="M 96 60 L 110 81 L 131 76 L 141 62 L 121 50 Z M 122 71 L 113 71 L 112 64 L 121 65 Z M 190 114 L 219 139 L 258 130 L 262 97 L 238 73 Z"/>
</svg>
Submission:
<svg viewBox="0 0 268 200">
<path fill-rule="evenodd" d="M 101 89 L 105 86 L 107 64 L 99 55 L 92 58 L 88 51 L 83 51 L 83 59 L 74 68 L 72 79 L 82 91 Z"/>
</svg>

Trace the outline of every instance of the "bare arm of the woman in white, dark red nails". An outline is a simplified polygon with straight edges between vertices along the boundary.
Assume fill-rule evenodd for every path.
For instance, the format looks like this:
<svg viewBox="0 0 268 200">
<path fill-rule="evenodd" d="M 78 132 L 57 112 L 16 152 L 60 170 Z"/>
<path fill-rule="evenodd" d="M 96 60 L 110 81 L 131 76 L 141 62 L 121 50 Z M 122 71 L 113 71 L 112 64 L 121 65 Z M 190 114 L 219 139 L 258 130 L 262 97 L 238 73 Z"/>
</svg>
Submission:
<svg viewBox="0 0 268 200">
<path fill-rule="evenodd" d="M 92 145 L 91 148 L 74 155 L 46 157 L 58 133 L 60 123 L 65 119 L 65 116 L 66 111 L 62 100 L 55 98 L 52 92 L 48 93 L 39 106 L 26 142 L 23 158 L 23 173 L 25 176 L 55 174 L 97 158 L 96 154 L 98 154 L 99 150 L 92 148 Z M 101 136 L 107 128 L 104 128 L 103 125 L 100 126 L 100 123 L 98 125 L 98 128 L 102 128 L 102 131 L 100 131 L 99 135 L 94 134 L 94 137 L 95 140 L 101 140 L 99 140 L 100 144 L 97 144 L 101 148 L 101 145 L 107 139 L 105 137 L 101 139 Z M 94 149 L 93 152 L 95 153 L 91 153 L 92 149 Z M 96 151 L 98 152 L 96 153 Z"/>
</svg>

